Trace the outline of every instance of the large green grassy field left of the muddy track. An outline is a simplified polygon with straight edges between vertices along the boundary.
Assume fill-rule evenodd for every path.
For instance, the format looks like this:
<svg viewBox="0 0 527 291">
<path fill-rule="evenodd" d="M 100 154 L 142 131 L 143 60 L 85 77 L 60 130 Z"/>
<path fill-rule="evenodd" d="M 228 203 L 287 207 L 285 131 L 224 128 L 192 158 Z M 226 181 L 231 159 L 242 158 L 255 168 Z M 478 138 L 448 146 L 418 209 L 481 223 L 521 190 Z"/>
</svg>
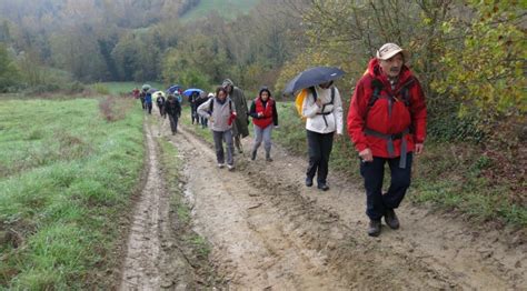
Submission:
<svg viewBox="0 0 527 291">
<path fill-rule="evenodd" d="M 0 103 L 0 287 L 109 289 L 143 165 L 142 113 L 97 99 Z M 3 238 L 3 240 L 1 240 Z"/>
</svg>

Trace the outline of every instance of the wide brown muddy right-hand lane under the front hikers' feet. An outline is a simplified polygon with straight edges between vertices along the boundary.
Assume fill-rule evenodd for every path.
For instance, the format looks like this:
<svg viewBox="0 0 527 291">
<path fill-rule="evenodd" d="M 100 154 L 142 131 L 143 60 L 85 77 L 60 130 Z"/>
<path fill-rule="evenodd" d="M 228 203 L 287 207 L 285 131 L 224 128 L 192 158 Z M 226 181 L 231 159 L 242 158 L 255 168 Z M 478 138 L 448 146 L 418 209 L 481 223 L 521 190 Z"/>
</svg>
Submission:
<svg viewBox="0 0 527 291">
<path fill-rule="evenodd" d="M 216 253 L 217 263 L 223 267 L 225 273 L 231 274 L 228 279 L 231 279 L 233 287 L 242 289 L 251 282 L 256 287 L 266 288 L 268 284 L 267 287 L 287 289 L 503 290 L 525 285 L 526 272 L 521 264 L 521 260 L 526 259 L 525 245 L 519 245 L 521 248 L 518 250 L 509 248 L 496 238 L 499 233 L 478 241 L 478 232 L 470 231 L 469 225 L 419 208 L 404 205 L 400 217 L 406 224 L 399 231 L 384 228 L 381 238 L 371 239 L 365 234 L 367 219 L 364 214 L 364 193 L 357 185 L 330 178 L 332 189 L 328 192 L 306 189 L 301 183 L 305 161 L 288 155 L 279 148 L 274 150 L 276 155 L 272 163 L 258 159 L 256 162 L 249 162 L 247 157 L 237 155 L 235 173 L 220 171 L 213 169 L 216 163 L 210 146 L 190 132 L 180 134 L 177 139 L 179 141 L 175 142 L 176 147 L 192 144 L 185 151 L 195 151 L 192 158 L 187 160 L 192 163 L 187 168 L 187 174 L 199 174 L 199 171 L 192 172 L 189 168 L 201 167 L 208 169 L 203 175 L 221 175 L 222 179 L 237 181 L 236 187 L 223 189 L 227 193 L 221 193 L 222 199 L 230 202 L 221 207 L 228 209 L 229 203 L 251 198 L 251 202 L 239 205 L 247 209 L 245 217 L 237 219 L 245 219 L 251 232 L 260 235 L 258 240 L 269 250 L 259 254 L 264 255 L 260 260 L 269 261 L 267 264 L 251 267 L 256 272 L 267 273 L 267 277 L 265 280 L 250 279 L 243 264 L 240 265 L 236 260 L 231 263 L 230 257 L 237 254 L 232 251 L 226 252 L 225 249 L 229 249 L 229 244 L 236 241 L 221 241 L 220 238 L 216 245 L 221 249 Z M 245 143 L 245 148 L 249 149 L 248 139 Z M 190 179 L 189 184 L 209 181 L 210 179 Z M 242 187 L 248 189 L 245 193 L 235 190 Z M 206 192 L 210 191 L 210 187 L 196 190 Z M 215 191 L 218 189 L 213 188 L 211 193 Z M 207 199 L 207 194 L 201 195 Z M 198 221 L 202 220 L 201 215 L 199 211 L 196 212 Z M 219 223 L 226 213 L 217 215 L 213 221 Z M 271 222 L 267 222 L 265 218 Z M 237 219 L 222 220 L 220 225 L 225 228 L 223 231 L 237 228 Z M 201 231 L 212 241 L 218 240 L 213 229 L 205 228 Z M 312 255 L 305 259 L 311 260 L 311 267 L 307 269 L 322 277 L 329 274 L 332 283 L 317 285 L 302 281 L 304 278 L 296 273 L 301 270 L 284 267 L 285 260 L 269 259 L 276 254 L 280 258 L 287 257 L 287 251 L 279 252 L 284 247 L 277 241 L 292 241 L 287 244 L 294 245 L 294 252 Z M 489 258 L 489 251 L 494 258 Z M 278 277 L 274 278 L 276 270 L 280 270 L 289 280 L 280 281 Z"/>
</svg>

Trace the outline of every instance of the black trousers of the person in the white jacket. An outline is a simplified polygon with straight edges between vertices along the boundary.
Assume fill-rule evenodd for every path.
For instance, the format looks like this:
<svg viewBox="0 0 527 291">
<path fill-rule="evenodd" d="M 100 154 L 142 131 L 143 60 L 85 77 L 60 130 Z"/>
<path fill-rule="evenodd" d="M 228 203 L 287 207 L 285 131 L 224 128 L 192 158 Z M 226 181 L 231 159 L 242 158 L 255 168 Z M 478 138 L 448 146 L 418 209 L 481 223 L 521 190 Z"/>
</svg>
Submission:
<svg viewBox="0 0 527 291">
<path fill-rule="evenodd" d="M 309 179 L 312 179 L 317 173 L 317 182 L 325 184 L 328 178 L 329 154 L 334 147 L 334 132 L 318 133 L 308 130 L 308 152 L 309 165 L 306 172 Z"/>
</svg>

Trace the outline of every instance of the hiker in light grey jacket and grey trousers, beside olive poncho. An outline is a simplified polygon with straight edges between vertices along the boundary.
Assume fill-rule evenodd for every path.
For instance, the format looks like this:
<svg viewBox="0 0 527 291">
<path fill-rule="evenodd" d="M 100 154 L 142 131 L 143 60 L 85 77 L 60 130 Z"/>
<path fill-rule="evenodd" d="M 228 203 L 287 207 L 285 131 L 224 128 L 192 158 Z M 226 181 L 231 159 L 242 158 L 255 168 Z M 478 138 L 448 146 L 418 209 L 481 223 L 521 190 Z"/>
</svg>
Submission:
<svg viewBox="0 0 527 291">
<path fill-rule="evenodd" d="M 227 148 L 227 168 L 235 169 L 232 144 L 232 123 L 236 119 L 236 104 L 227 96 L 227 90 L 222 87 L 216 89 L 216 97 L 209 99 L 198 108 L 198 114 L 206 117 L 210 121 L 210 130 L 215 140 L 216 159 L 218 168 L 225 167 L 223 141 Z"/>
</svg>

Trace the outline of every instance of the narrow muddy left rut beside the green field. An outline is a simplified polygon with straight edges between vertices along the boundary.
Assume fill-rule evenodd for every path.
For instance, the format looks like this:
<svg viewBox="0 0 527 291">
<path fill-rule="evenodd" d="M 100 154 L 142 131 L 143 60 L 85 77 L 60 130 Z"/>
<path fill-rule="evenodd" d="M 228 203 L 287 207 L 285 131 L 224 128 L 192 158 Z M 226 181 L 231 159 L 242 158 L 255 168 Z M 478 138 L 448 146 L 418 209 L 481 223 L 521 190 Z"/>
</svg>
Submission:
<svg viewBox="0 0 527 291">
<path fill-rule="evenodd" d="M 186 290 L 192 287 L 192 270 L 175 244 L 169 193 L 161 181 L 162 169 L 153 140 L 158 128 L 150 127 L 148 119 L 145 134 L 148 174 L 135 201 L 119 290 Z"/>
</svg>

